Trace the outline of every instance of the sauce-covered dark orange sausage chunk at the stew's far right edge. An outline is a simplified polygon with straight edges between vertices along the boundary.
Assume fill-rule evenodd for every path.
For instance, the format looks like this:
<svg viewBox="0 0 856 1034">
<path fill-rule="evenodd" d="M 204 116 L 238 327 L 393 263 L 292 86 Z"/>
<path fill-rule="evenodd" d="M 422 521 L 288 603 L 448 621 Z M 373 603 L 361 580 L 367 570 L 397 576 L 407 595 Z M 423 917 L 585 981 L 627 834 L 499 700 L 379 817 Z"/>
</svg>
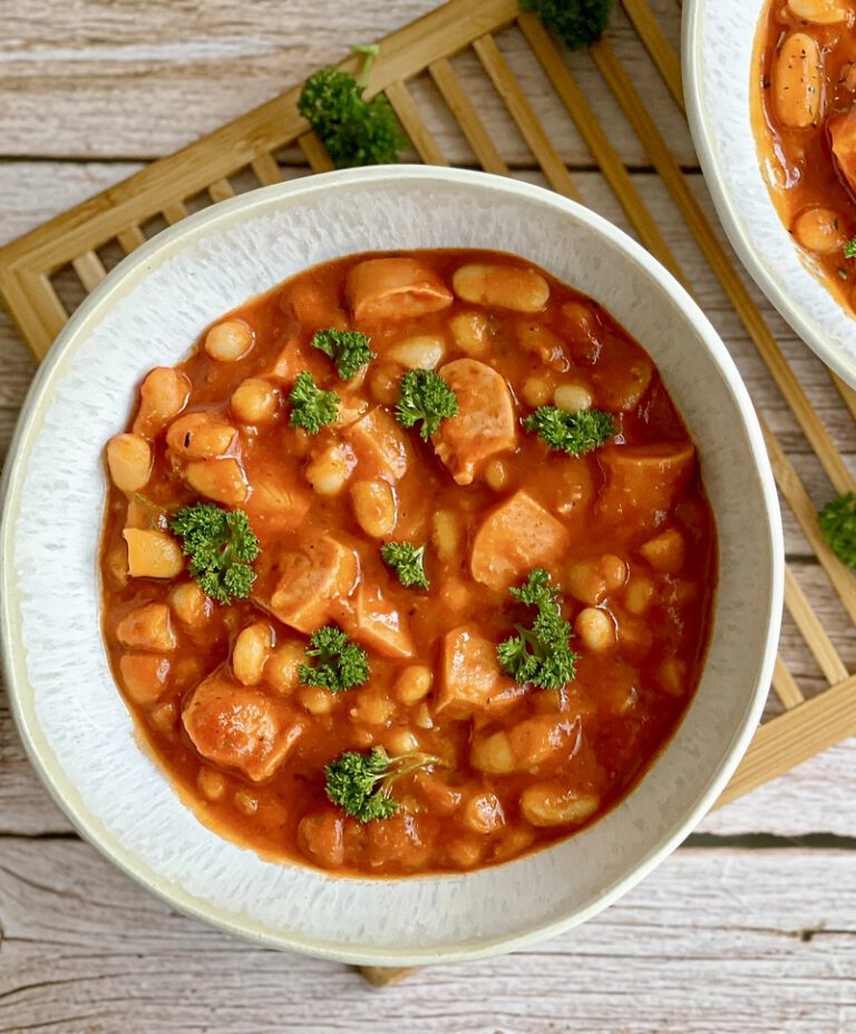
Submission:
<svg viewBox="0 0 856 1034">
<path fill-rule="evenodd" d="M 599 458 L 606 485 L 595 513 L 610 524 L 628 520 L 650 527 L 662 519 L 687 487 L 696 466 L 696 449 L 689 441 L 611 446 Z"/>
</svg>

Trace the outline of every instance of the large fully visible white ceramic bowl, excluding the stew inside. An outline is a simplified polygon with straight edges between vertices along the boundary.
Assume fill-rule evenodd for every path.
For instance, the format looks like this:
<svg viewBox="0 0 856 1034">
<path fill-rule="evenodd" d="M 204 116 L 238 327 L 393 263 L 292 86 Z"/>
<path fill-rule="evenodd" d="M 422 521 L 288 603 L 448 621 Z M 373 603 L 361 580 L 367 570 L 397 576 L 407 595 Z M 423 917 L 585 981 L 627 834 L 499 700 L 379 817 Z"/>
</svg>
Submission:
<svg viewBox="0 0 856 1034">
<path fill-rule="evenodd" d="M 467 875 L 335 878 L 263 861 L 201 825 L 138 744 L 107 667 L 96 557 L 105 440 L 140 377 L 251 295 L 352 252 L 488 247 L 605 304 L 656 361 L 701 457 L 720 585 L 701 686 L 638 789 L 576 837 Z M 556 194 L 425 167 L 313 176 L 185 220 L 126 258 L 42 365 L 6 471 L 2 634 L 29 755 L 80 832 L 176 908 L 265 944 L 403 965 L 483 956 L 582 923 L 710 807 L 760 715 L 778 636 L 776 490 L 722 342 L 646 252 Z"/>
</svg>

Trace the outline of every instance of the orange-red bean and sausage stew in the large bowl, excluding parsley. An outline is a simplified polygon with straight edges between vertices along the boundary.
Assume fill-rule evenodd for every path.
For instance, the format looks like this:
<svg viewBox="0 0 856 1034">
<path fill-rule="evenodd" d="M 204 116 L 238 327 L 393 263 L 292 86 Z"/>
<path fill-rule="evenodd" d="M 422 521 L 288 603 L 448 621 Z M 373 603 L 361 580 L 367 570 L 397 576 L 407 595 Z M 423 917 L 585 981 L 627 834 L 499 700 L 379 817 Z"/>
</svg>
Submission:
<svg viewBox="0 0 856 1034">
<path fill-rule="evenodd" d="M 391 255 L 382 275 L 376 257 L 286 281 L 146 379 L 107 451 L 104 637 L 154 757 L 223 836 L 342 875 L 474 869 L 594 821 L 672 735 L 708 644 L 714 523 L 656 369 L 602 306 L 512 255 Z M 349 381 L 310 344 L 328 328 L 370 335 Z M 395 418 L 414 367 L 460 402 L 427 441 Z M 290 426 L 302 370 L 340 399 L 317 435 Z M 552 451 L 524 419 L 554 402 L 611 413 L 614 435 Z M 260 540 L 247 598 L 208 599 L 178 555 L 171 517 L 201 499 Z M 428 589 L 383 542 L 425 544 Z M 576 633 L 561 690 L 496 657 L 532 622 L 508 588 L 536 567 Z M 329 624 L 366 650 L 364 685 L 301 681 Z M 395 782 L 392 817 L 360 822 L 324 765 L 376 747 L 435 761 Z"/>
</svg>

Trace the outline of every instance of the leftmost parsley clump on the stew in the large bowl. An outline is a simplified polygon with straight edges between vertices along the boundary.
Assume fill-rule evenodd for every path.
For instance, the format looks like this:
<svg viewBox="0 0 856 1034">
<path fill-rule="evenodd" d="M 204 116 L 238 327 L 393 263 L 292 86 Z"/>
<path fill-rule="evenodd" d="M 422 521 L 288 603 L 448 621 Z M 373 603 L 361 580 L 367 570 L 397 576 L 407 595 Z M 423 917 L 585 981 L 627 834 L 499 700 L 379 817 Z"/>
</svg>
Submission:
<svg viewBox="0 0 856 1034">
<path fill-rule="evenodd" d="M 250 595 L 255 582 L 250 565 L 262 550 L 243 510 L 194 503 L 182 507 L 169 527 L 182 539 L 191 575 L 206 596 L 232 603 Z"/>
</svg>

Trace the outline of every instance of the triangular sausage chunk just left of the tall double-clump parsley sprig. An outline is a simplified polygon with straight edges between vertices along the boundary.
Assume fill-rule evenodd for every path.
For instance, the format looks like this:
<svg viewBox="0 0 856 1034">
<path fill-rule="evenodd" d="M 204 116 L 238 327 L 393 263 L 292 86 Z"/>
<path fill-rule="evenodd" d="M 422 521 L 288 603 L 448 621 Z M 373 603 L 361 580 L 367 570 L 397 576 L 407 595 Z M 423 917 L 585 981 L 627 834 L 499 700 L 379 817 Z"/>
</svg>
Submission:
<svg viewBox="0 0 856 1034">
<path fill-rule="evenodd" d="M 505 676 L 496 659 L 496 644 L 474 625 L 446 633 L 440 656 L 437 713 L 470 718 L 476 711 L 514 699 L 515 683 Z"/>
</svg>

